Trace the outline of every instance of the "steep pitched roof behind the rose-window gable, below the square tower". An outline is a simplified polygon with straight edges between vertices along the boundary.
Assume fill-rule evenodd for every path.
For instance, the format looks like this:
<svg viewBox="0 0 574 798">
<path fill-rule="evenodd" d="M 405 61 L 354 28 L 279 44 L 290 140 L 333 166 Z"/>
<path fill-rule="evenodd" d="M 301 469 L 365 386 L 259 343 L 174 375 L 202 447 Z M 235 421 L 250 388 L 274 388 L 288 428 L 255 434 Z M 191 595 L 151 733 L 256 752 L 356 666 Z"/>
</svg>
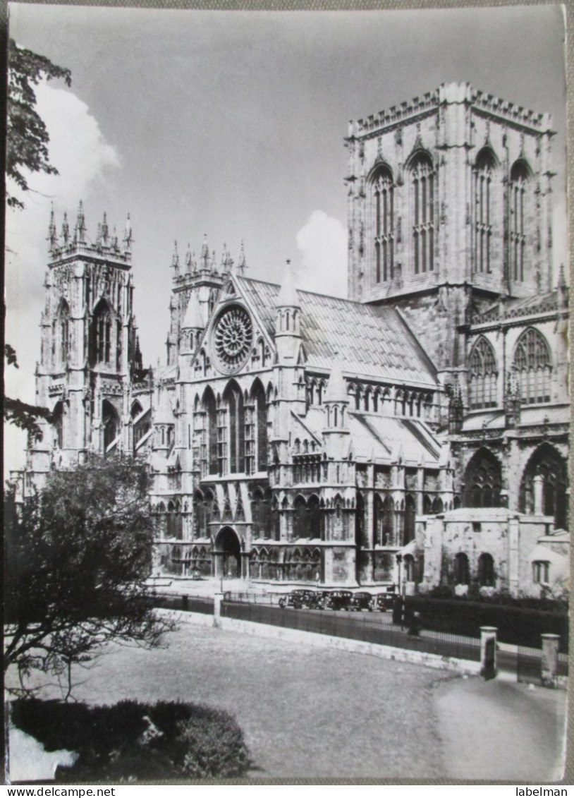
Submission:
<svg viewBox="0 0 574 798">
<path fill-rule="evenodd" d="M 237 277 L 269 335 L 275 331 L 279 286 Z M 437 385 L 436 369 L 395 308 L 297 290 L 301 338 L 310 368 L 330 371 L 338 352 L 347 377 Z"/>
</svg>

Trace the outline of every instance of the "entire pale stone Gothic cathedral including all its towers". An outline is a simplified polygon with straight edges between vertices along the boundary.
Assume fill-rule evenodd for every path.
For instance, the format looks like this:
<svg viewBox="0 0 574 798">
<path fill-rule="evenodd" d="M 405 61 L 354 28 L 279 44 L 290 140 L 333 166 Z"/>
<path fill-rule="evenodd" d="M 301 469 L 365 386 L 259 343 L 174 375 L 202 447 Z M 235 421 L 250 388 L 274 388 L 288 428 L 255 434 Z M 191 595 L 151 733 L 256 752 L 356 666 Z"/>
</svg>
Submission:
<svg viewBox="0 0 574 798">
<path fill-rule="evenodd" d="M 551 139 L 546 115 L 466 84 L 352 123 L 350 298 L 297 290 L 289 263 L 276 286 L 243 250 L 175 247 L 152 373 L 131 228 L 120 245 L 104 219 L 88 245 L 83 211 L 73 237 L 52 221 L 37 398 L 62 411 L 29 479 L 90 450 L 144 457 L 171 575 L 529 595 L 564 579 Z"/>
</svg>

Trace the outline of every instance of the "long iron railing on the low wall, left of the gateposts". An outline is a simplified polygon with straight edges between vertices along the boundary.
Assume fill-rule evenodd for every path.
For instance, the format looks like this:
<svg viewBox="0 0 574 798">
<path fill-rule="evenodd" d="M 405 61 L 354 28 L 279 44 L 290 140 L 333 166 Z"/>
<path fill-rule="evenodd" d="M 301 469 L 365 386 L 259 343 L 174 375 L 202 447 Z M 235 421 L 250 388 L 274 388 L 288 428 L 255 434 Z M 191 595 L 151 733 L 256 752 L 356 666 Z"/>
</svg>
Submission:
<svg viewBox="0 0 574 798">
<path fill-rule="evenodd" d="M 225 618 L 238 618 L 254 623 L 266 623 L 316 634 L 378 643 L 409 650 L 419 650 L 442 657 L 455 657 L 472 662 L 480 661 L 478 638 L 464 637 L 448 632 L 423 630 L 419 636 L 408 634 L 392 626 L 387 619 L 375 613 L 341 613 L 335 610 L 290 610 L 269 604 L 252 602 L 222 602 Z"/>
</svg>

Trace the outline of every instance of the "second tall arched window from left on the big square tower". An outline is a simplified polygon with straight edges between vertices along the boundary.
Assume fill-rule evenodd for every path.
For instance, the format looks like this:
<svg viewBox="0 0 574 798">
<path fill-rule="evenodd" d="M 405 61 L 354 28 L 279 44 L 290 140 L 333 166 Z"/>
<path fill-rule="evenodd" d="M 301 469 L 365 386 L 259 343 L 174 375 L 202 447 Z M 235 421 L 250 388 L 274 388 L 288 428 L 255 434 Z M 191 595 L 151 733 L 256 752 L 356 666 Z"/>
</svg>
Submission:
<svg viewBox="0 0 574 798">
<path fill-rule="evenodd" d="M 411 161 L 413 271 L 434 268 L 434 172 L 430 156 L 419 152 Z"/>
</svg>

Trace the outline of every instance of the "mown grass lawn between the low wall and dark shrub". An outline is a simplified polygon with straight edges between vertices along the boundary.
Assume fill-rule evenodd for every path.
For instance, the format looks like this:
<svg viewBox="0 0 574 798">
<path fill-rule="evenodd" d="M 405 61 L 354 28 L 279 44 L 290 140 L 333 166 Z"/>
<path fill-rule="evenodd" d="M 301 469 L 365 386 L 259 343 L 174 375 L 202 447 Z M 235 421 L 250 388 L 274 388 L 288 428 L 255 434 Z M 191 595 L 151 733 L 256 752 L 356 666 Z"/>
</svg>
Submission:
<svg viewBox="0 0 574 798">
<path fill-rule="evenodd" d="M 182 700 L 226 709 L 245 732 L 253 778 L 445 773 L 431 701 L 433 685 L 445 676 L 422 666 L 183 618 L 168 648 L 110 646 L 76 678 L 85 681 L 74 695 L 88 703 Z"/>
</svg>

